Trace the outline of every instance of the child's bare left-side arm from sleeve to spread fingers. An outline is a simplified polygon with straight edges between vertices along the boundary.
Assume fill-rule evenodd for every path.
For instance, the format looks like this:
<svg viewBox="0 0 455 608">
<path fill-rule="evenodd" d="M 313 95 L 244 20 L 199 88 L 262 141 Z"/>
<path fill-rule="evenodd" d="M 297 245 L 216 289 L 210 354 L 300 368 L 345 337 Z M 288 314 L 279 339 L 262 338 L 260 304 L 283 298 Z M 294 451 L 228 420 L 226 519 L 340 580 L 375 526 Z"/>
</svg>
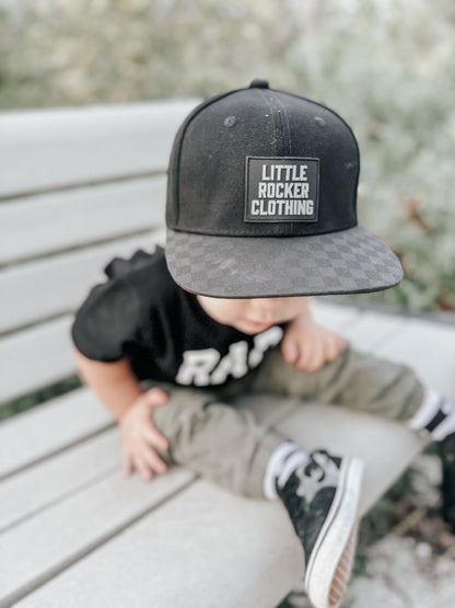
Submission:
<svg viewBox="0 0 455 608">
<path fill-rule="evenodd" d="M 166 450 L 168 440 L 153 423 L 153 410 L 164 405 L 168 395 L 159 388 L 142 392 L 128 359 L 103 363 L 89 359 L 75 349 L 75 360 L 85 383 L 117 418 L 122 440 L 122 472 L 133 468 L 144 481 L 166 471 L 156 450 Z"/>
</svg>

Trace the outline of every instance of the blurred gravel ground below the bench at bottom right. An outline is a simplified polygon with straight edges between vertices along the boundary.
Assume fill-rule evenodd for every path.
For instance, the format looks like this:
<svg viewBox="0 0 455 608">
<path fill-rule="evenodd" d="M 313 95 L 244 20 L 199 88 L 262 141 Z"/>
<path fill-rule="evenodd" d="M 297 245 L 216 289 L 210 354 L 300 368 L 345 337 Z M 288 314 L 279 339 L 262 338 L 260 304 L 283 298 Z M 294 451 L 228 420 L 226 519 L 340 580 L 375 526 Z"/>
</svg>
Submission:
<svg viewBox="0 0 455 608">
<path fill-rule="evenodd" d="M 365 518 L 358 552 L 361 572 L 352 578 L 342 608 L 455 606 L 455 536 L 439 516 L 439 483 L 438 457 L 422 455 L 412 468 L 412 492 L 393 498 L 387 508 L 386 529 L 374 537 Z M 281 607 L 311 605 L 303 588 L 295 588 Z"/>
</svg>

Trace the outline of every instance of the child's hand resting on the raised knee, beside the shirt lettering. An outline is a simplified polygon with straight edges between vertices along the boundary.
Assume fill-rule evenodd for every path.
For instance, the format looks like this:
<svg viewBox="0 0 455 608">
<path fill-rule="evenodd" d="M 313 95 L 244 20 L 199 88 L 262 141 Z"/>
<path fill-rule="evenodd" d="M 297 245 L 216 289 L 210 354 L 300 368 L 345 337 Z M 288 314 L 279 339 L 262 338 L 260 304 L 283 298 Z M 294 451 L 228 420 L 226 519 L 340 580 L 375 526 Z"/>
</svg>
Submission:
<svg viewBox="0 0 455 608">
<path fill-rule="evenodd" d="M 312 374 L 332 362 L 347 348 L 346 340 L 302 316 L 292 321 L 281 342 L 281 353 L 287 363 Z"/>
</svg>

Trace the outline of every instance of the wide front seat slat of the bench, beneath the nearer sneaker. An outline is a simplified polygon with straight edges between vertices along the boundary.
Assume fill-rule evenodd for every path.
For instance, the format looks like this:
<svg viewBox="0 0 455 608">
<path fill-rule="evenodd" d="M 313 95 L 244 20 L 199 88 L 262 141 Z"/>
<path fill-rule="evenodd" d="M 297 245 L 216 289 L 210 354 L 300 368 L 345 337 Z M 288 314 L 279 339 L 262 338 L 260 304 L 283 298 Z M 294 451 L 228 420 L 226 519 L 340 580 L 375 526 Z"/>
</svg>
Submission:
<svg viewBox="0 0 455 608">
<path fill-rule="evenodd" d="M 20 606 L 50 608 L 72 597 L 78 606 L 113 608 L 272 608 L 302 571 L 299 541 L 278 503 L 198 481 Z"/>
</svg>

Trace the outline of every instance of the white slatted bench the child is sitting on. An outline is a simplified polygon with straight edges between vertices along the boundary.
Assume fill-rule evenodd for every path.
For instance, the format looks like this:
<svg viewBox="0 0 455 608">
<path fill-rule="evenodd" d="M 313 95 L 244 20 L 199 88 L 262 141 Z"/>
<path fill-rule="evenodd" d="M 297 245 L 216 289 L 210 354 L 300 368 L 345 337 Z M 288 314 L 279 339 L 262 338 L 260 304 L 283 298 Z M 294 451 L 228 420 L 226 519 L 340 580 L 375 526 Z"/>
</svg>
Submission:
<svg viewBox="0 0 455 608">
<path fill-rule="evenodd" d="M 74 375 L 69 328 L 89 287 L 112 256 L 163 238 L 168 152 L 195 103 L 0 115 L 0 404 Z M 455 397 L 453 328 L 327 302 L 315 312 Z M 362 513 L 422 447 L 366 415 L 245 405 L 305 447 L 363 456 Z M 301 577 L 278 503 L 184 468 L 124 480 L 119 457 L 116 425 L 86 388 L 0 424 L 0 607 L 273 608 Z"/>
</svg>

